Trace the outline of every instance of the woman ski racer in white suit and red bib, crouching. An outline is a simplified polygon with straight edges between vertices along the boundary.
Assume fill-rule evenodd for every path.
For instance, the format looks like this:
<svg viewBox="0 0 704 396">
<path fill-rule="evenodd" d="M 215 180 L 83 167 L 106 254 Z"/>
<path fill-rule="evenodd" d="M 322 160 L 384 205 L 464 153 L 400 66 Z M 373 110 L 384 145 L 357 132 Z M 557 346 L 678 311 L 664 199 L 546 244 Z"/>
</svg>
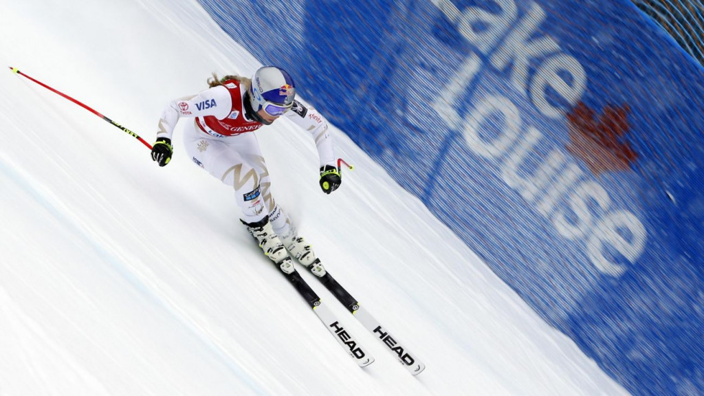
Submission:
<svg viewBox="0 0 704 396">
<path fill-rule="evenodd" d="M 197 165 L 234 187 L 241 222 L 259 246 L 284 272 L 294 271 L 289 255 L 318 276 L 325 268 L 313 249 L 296 233 L 270 192 L 270 178 L 256 136 L 262 125 L 284 116 L 310 132 L 318 148 L 320 187 L 329 194 L 339 187 L 332 137 L 327 120 L 313 107 L 295 100 L 296 85 L 281 68 L 265 66 L 251 80 L 239 75 L 222 79 L 213 73 L 210 88 L 172 101 L 161 114 L 151 159 L 165 166 L 171 160 L 171 137 L 180 118 L 194 118 L 184 131 L 184 147 Z M 284 248 L 285 247 L 285 248 Z"/>
</svg>

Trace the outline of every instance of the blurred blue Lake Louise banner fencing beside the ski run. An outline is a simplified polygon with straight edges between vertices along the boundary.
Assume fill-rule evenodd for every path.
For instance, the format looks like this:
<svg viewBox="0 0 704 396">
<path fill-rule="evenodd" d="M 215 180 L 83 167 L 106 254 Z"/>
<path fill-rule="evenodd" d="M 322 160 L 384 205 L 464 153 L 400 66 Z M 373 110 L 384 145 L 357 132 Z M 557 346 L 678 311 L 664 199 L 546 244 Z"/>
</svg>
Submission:
<svg viewBox="0 0 704 396">
<path fill-rule="evenodd" d="M 628 390 L 704 392 L 703 70 L 633 4 L 201 4 Z"/>
</svg>

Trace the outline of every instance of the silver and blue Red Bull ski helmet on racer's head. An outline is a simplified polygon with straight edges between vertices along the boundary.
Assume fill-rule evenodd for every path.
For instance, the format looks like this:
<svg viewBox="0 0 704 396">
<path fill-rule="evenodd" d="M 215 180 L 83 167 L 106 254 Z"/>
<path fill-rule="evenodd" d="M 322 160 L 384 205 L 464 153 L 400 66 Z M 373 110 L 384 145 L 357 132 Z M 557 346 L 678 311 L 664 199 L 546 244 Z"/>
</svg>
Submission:
<svg viewBox="0 0 704 396">
<path fill-rule="evenodd" d="M 249 86 L 249 102 L 254 113 L 264 109 L 277 117 L 291 109 L 296 97 L 296 84 L 286 70 L 275 66 L 259 68 Z"/>
</svg>

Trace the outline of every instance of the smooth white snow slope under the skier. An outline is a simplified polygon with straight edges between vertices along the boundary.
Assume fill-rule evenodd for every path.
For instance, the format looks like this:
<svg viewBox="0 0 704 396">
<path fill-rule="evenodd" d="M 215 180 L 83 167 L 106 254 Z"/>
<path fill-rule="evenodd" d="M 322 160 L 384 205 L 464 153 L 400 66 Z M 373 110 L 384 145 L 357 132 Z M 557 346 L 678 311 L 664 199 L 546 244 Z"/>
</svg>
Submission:
<svg viewBox="0 0 704 396">
<path fill-rule="evenodd" d="M 1 0 L 0 64 L 153 140 L 170 99 L 258 61 L 191 0 Z M 340 283 L 427 369 L 410 376 L 308 273 L 377 361 L 358 369 L 175 137 L 137 140 L 0 73 L 0 395 L 618 395 L 343 131 L 341 190 L 306 132 L 258 132 L 275 197 Z M 529 265 L 529 264 L 527 264 Z M 302 269 L 302 268 L 300 268 Z"/>
</svg>

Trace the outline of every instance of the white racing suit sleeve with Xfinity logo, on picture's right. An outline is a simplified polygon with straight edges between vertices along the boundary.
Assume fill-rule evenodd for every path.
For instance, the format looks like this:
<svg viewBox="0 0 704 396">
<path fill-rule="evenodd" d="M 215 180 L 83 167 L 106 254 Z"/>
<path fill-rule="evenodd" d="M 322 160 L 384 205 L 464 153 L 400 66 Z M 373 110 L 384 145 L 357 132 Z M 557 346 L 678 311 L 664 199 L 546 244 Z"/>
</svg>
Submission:
<svg viewBox="0 0 704 396">
<path fill-rule="evenodd" d="M 315 147 L 318 149 L 320 166 L 331 165 L 337 167 L 332 136 L 327 130 L 327 120 L 322 114 L 318 113 L 313 106 L 294 100 L 294 106 L 291 107 L 291 110 L 284 113 L 284 116 L 304 130 L 307 130 L 310 136 L 313 137 Z"/>
</svg>

